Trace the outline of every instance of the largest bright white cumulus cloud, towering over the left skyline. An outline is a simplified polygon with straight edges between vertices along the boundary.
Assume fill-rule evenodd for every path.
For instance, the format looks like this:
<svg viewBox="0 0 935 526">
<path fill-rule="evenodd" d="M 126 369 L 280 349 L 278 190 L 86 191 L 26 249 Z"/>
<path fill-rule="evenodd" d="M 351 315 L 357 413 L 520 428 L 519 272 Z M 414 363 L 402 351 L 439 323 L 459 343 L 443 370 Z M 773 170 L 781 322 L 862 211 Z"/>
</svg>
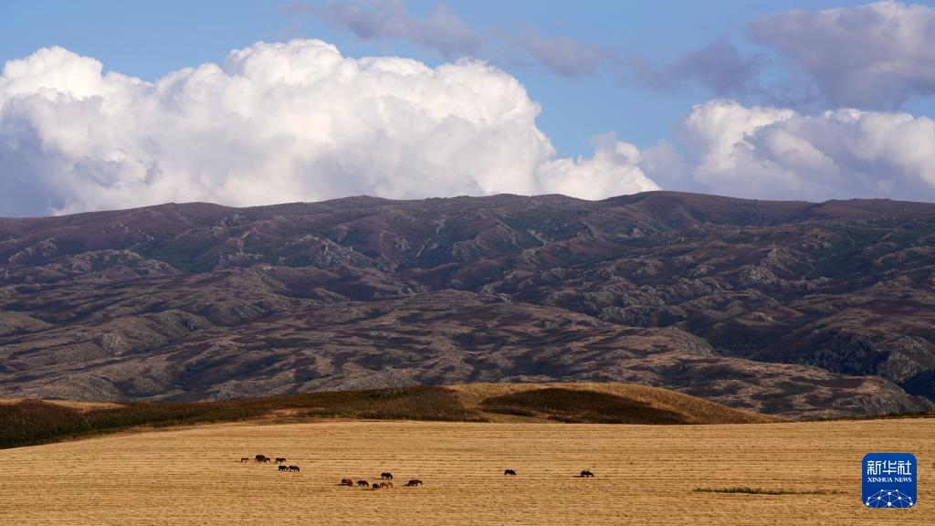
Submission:
<svg viewBox="0 0 935 526">
<path fill-rule="evenodd" d="M 349 195 L 608 197 L 658 186 L 636 148 L 557 159 L 539 105 L 476 61 L 257 43 L 146 82 L 61 48 L 0 76 L 0 215 Z"/>
</svg>

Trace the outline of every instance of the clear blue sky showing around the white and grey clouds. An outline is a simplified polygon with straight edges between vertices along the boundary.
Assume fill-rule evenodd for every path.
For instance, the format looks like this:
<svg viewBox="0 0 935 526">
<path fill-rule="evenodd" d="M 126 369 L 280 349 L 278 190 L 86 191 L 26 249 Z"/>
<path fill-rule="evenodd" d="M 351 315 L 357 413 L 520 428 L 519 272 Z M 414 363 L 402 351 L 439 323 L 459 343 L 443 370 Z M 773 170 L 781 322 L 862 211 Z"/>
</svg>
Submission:
<svg viewBox="0 0 935 526">
<path fill-rule="evenodd" d="M 683 137 L 686 119 L 692 114 L 696 105 L 712 104 L 714 100 L 728 99 L 731 103 L 739 105 L 731 111 L 736 114 L 746 111 L 744 119 L 750 117 L 749 110 L 755 109 L 757 105 L 795 111 L 797 117 L 801 118 L 843 108 L 880 111 L 889 115 L 905 112 L 915 119 L 923 120 L 921 123 L 925 124 L 923 132 L 928 130 L 928 117 L 935 114 L 935 102 L 933 102 L 935 97 L 932 96 L 935 91 L 932 86 L 935 82 L 928 78 L 920 79 L 912 73 L 901 73 L 904 78 L 895 80 L 892 93 L 835 94 L 831 91 L 834 89 L 834 81 L 823 79 L 821 73 L 816 73 L 814 67 L 817 66 L 812 64 L 813 69 L 806 71 L 808 66 L 803 66 L 803 61 L 807 61 L 808 57 L 803 57 L 801 53 L 797 55 L 795 50 L 784 49 L 783 38 L 796 38 L 793 36 L 794 27 L 792 30 L 787 24 L 780 27 L 784 22 L 780 19 L 775 21 L 770 19 L 764 24 L 765 26 L 775 25 L 779 27 L 779 30 L 785 31 L 784 34 L 780 31 L 779 37 L 775 37 L 773 33 L 770 33 L 770 27 L 755 31 L 751 25 L 752 21 L 762 17 L 777 17 L 796 9 L 802 10 L 809 16 L 811 16 L 810 13 L 814 14 L 815 21 L 817 21 L 815 23 L 826 23 L 818 20 L 820 11 L 843 9 L 841 12 L 847 14 L 850 12 L 849 9 L 853 9 L 859 14 L 863 12 L 860 9 L 866 11 L 865 2 L 722 0 L 714 3 L 587 2 L 582 5 L 568 2 L 530 1 L 453 1 L 439 4 L 434 1 L 411 0 L 405 3 L 395 3 L 381 0 L 342 5 L 309 2 L 297 8 L 288 6 L 287 3 L 277 1 L 215 2 L 203 0 L 144 3 L 105 0 L 93 2 L 0 0 L 0 62 L 23 59 L 41 48 L 60 46 L 77 55 L 93 57 L 103 64 L 105 71 L 115 71 L 142 80 L 156 81 L 184 67 L 194 67 L 205 63 L 220 64 L 230 51 L 249 47 L 257 41 L 284 42 L 294 38 L 318 38 L 337 46 L 341 54 L 346 57 L 392 55 L 412 58 L 429 66 L 451 63 L 467 55 L 506 71 L 523 84 L 528 97 L 538 102 L 541 107 L 536 125 L 554 145 L 555 158 L 575 158 L 578 155 L 588 157 L 596 148 L 595 138 L 612 133 L 617 140 L 631 144 L 638 149 L 642 156 L 639 162 L 642 163 L 639 165 L 640 169 L 656 183 L 665 182 L 665 184 L 660 183 L 660 186 L 670 188 L 673 187 L 674 182 L 675 189 L 721 193 L 726 193 L 725 189 L 729 190 L 733 187 L 729 180 L 734 176 L 719 179 L 717 184 L 706 183 L 710 177 L 705 172 L 707 168 L 704 168 L 704 158 L 699 157 L 703 155 L 694 153 L 698 158 L 693 158 L 692 151 L 693 149 L 700 151 L 704 148 L 711 150 L 712 146 L 702 145 L 693 138 Z M 458 49 L 444 52 L 439 51 L 441 48 L 435 45 L 438 36 L 425 37 L 420 41 L 420 37 L 412 37 L 414 34 L 408 33 L 409 30 L 403 31 L 402 36 L 397 34 L 387 37 L 387 31 L 392 33 L 395 30 L 377 28 L 376 36 L 362 36 L 359 31 L 355 33 L 353 26 L 354 23 L 360 22 L 360 13 L 338 13 L 339 8 L 349 6 L 364 13 L 379 13 L 396 9 L 397 14 L 401 13 L 401 18 L 398 20 L 409 21 L 413 24 L 412 27 L 428 20 L 437 9 L 442 8 L 468 28 L 469 32 L 478 39 L 478 43 L 468 51 Z M 899 27 L 904 27 L 907 23 L 905 21 L 919 19 L 918 13 L 920 12 L 925 16 L 928 16 L 930 12 L 935 12 L 931 11 L 930 6 L 925 3 L 898 4 L 897 6 L 904 12 L 879 23 L 901 24 Z M 910 8 L 922 10 L 910 13 Z M 795 23 L 812 23 L 812 19 L 805 18 Z M 381 31 L 384 33 L 381 34 Z M 810 31 L 812 33 L 808 35 L 813 36 L 824 30 Z M 907 31 L 910 30 L 907 29 Z M 753 33 L 761 36 L 754 37 Z M 923 35 L 922 40 L 917 42 L 919 48 L 926 46 L 935 48 L 935 42 L 931 41 L 931 35 L 935 33 L 929 32 L 928 40 L 924 37 L 927 35 L 924 29 L 918 34 Z M 827 35 L 829 38 L 827 41 L 815 40 L 815 45 L 819 49 L 848 45 L 844 37 L 834 40 L 831 30 L 827 31 Z M 557 39 L 564 40 L 557 42 Z M 537 40 L 539 44 L 542 44 L 542 49 L 547 50 L 546 54 L 549 54 L 549 49 L 553 51 L 558 49 L 548 48 L 548 46 L 558 44 L 571 46 L 572 51 L 586 51 L 579 52 L 578 55 L 572 54 L 569 60 L 585 61 L 587 57 L 591 57 L 596 61 L 597 66 L 594 66 L 593 70 L 586 65 L 578 68 L 574 64 L 568 66 L 568 61 L 566 61 L 563 63 L 564 66 L 570 67 L 573 71 L 570 73 L 559 71 L 546 64 L 548 57 L 543 62 L 530 51 L 533 49 L 530 44 L 532 40 Z M 742 61 L 749 60 L 750 64 L 756 65 L 752 80 L 755 88 L 744 90 L 731 88 L 724 93 L 718 93 L 716 88 L 698 80 L 699 75 L 705 74 L 705 71 L 699 68 L 703 69 L 710 64 L 716 66 L 727 60 L 723 58 L 724 53 L 720 51 L 717 53 L 712 51 L 711 57 L 713 58 L 710 60 L 714 61 L 713 63 L 693 62 L 687 59 L 680 63 L 686 55 L 705 50 L 716 43 L 723 44 L 728 51 L 736 52 Z M 894 49 L 897 48 L 898 46 L 894 46 Z M 835 57 L 840 56 L 833 53 L 827 54 L 828 61 L 838 60 Z M 912 58 L 917 64 L 907 66 L 899 63 L 899 67 L 903 69 L 932 67 L 932 63 L 927 62 L 930 60 L 930 55 L 926 51 L 918 51 L 918 54 L 919 56 Z M 901 60 L 899 56 L 890 58 L 894 62 Z M 651 72 L 652 79 L 640 78 L 638 68 L 634 64 L 644 66 L 646 71 Z M 681 66 L 673 66 L 679 64 L 684 67 L 679 69 Z M 667 71 L 667 66 L 671 66 L 674 71 L 674 73 L 666 74 L 668 76 L 663 75 Z M 827 70 L 834 73 L 836 71 L 834 68 L 838 66 L 828 64 Z M 841 75 L 847 74 L 849 73 L 846 71 L 841 73 Z M 713 73 L 712 75 L 716 77 L 719 74 Z M 728 78 L 731 71 L 728 70 L 720 75 L 721 77 L 715 80 L 732 81 Z M 899 75 L 896 76 L 899 77 Z M 878 79 L 872 81 L 879 83 Z M 653 85 L 654 82 L 655 85 Z M 809 95 L 803 97 L 801 96 L 803 93 Z M 893 102 L 894 100 L 897 102 Z M 796 129 L 801 129 L 801 127 L 797 126 Z M 913 137 L 917 137 L 920 132 L 913 128 L 912 133 Z M 753 135 L 756 134 L 751 132 L 750 136 Z M 755 139 L 762 139 L 764 145 L 769 141 L 765 135 L 757 136 Z M 681 157 L 672 160 L 669 158 L 671 155 L 666 157 L 654 151 L 654 146 L 657 146 L 660 141 L 670 145 L 672 152 L 678 153 Z M 752 142 L 752 144 L 759 147 L 760 143 Z M 818 141 L 810 139 L 810 144 L 817 145 Z M 828 152 L 838 151 L 841 148 L 840 146 L 816 147 L 828 155 L 831 155 Z M 662 159 L 655 163 L 656 165 L 661 163 L 669 167 L 667 168 L 669 171 L 665 174 L 654 177 L 651 173 L 649 165 L 653 163 L 646 160 L 647 153 L 651 151 L 653 154 L 649 157 Z M 848 160 L 841 160 L 837 157 L 833 160 L 836 166 L 841 168 L 842 163 L 853 163 L 850 157 Z M 774 161 L 775 159 L 771 158 L 768 160 L 759 158 L 756 169 L 770 165 L 770 163 L 774 164 Z M 881 183 L 869 175 L 873 169 L 887 169 L 886 167 L 894 163 L 899 164 L 899 161 L 890 158 L 874 158 L 857 167 L 848 164 L 844 170 L 854 175 L 844 177 L 856 177 L 861 181 L 860 184 L 841 185 L 840 181 L 823 183 L 823 189 L 803 190 L 801 197 L 846 197 L 842 194 L 841 188 L 848 187 L 857 188 L 854 197 L 876 197 L 874 194 L 879 194 L 879 197 L 921 195 L 922 198 L 930 200 L 935 196 L 935 192 L 929 188 L 928 183 L 919 183 L 921 186 L 902 180 Z M 671 168 L 672 166 L 676 168 Z M 813 167 L 817 165 L 809 166 L 812 167 L 809 169 L 814 169 Z M 920 166 L 926 169 L 929 165 L 927 162 Z M 593 168 L 592 171 L 599 169 L 603 168 Z M 672 175 L 674 171 L 680 169 L 685 173 Z M 756 169 L 751 171 L 756 171 Z M 788 171 L 793 168 L 786 166 L 783 169 Z M 802 181 L 813 178 L 812 172 L 797 172 L 796 175 L 798 179 L 786 181 L 784 184 L 788 187 L 796 187 L 797 184 L 801 185 Z M 781 173 L 778 177 L 788 177 L 788 175 Z M 10 179 L 7 177 L 7 183 Z M 927 178 L 923 179 L 928 182 Z M 560 187 L 568 188 L 569 186 Z M 611 188 L 616 187 L 611 186 Z M 759 185 L 753 183 L 749 185 L 750 189 L 738 190 L 737 193 L 743 197 L 771 197 L 769 193 L 755 196 L 755 191 L 752 189 L 757 187 Z M 490 193 L 497 190 L 483 184 L 468 188 L 478 188 L 475 193 Z M 881 190 L 877 192 L 875 188 Z M 919 194 L 919 188 L 923 189 L 922 194 Z M 364 189 L 367 190 L 367 187 L 365 186 Z M 393 189 L 384 193 L 391 197 L 409 197 L 406 192 L 400 192 Z M 795 192 L 776 194 L 776 197 L 783 198 L 797 196 Z M 299 197 L 336 196 L 328 194 Z M 583 195 L 582 197 L 590 196 Z M 36 212 L 67 210 L 68 204 L 65 202 L 67 199 L 63 199 L 64 197 L 55 197 L 43 201 L 41 211 Z M 2 206 L 3 203 L 0 202 L 0 207 Z M 103 205 L 87 206 L 94 208 Z M 78 208 L 87 207 L 79 205 Z M 13 212 L 24 213 L 26 211 L 14 210 Z M 0 214 L 2 213 L 3 211 L 0 210 Z"/>
</svg>

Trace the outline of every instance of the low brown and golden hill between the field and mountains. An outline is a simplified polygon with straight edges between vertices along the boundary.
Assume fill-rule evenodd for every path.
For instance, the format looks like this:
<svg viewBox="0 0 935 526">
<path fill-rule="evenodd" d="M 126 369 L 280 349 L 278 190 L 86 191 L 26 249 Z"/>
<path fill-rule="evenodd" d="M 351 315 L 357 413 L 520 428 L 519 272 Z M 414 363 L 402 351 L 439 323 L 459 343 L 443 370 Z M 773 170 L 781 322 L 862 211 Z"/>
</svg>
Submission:
<svg viewBox="0 0 935 526">
<path fill-rule="evenodd" d="M 0 448 L 33 446 L 141 426 L 259 418 L 714 424 L 777 421 L 654 387 L 479 384 L 296 394 L 224 402 L 0 403 Z"/>
</svg>

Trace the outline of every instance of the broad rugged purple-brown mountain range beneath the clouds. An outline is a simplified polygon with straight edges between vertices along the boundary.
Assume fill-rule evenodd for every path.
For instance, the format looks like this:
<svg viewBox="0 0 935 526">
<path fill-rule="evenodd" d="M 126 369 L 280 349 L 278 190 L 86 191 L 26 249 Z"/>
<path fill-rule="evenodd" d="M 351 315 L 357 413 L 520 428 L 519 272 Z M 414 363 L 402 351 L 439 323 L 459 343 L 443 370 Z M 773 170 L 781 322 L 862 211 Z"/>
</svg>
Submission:
<svg viewBox="0 0 935 526">
<path fill-rule="evenodd" d="M 0 394 L 224 400 L 638 382 L 928 410 L 935 205 L 672 192 L 0 219 Z"/>
</svg>

